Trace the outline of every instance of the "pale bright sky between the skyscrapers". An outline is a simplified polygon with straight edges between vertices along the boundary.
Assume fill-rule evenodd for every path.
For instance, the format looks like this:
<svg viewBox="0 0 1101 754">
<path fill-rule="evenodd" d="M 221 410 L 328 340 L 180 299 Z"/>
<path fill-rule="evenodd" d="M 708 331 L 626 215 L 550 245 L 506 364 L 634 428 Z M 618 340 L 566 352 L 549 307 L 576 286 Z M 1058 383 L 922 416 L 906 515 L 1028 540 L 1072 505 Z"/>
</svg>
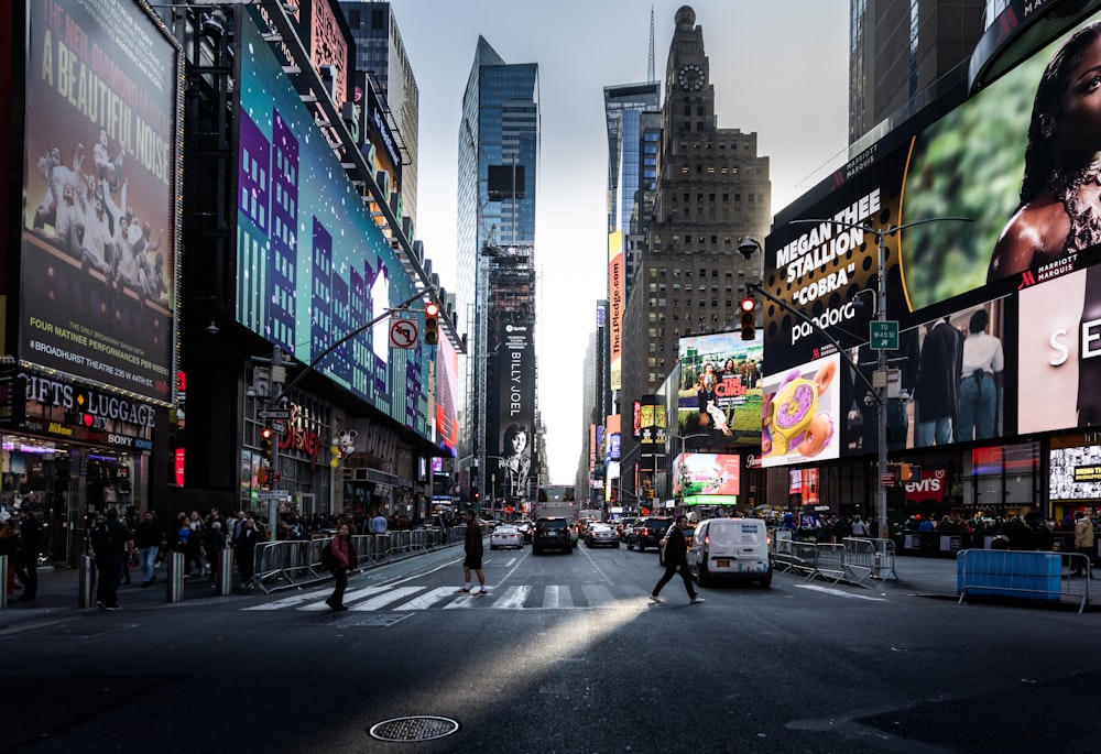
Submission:
<svg viewBox="0 0 1101 754">
<path fill-rule="evenodd" d="M 582 374 L 596 302 L 607 297 L 608 139 L 603 88 L 645 81 L 650 13 L 663 81 L 679 2 L 391 0 L 421 94 L 416 237 L 440 284 L 457 287 L 456 186 L 462 90 L 478 35 L 506 63 L 537 63 L 538 405 L 550 480 L 573 483 Z M 757 133 L 775 215 L 843 160 L 849 0 L 697 0 L 719 128 Z M 467 326 L 459 321 L 459 331 Z"/>
</svg>

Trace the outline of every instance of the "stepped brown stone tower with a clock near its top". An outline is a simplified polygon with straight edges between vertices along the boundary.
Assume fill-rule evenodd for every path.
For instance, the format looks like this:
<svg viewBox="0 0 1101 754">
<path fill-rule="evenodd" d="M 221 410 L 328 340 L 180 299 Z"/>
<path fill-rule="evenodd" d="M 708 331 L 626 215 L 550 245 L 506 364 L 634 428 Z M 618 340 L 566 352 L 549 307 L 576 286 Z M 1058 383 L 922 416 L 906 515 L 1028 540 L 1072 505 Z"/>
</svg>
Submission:
<svg viewBox="0 0 1101 754">
<path fill-rule="evenodd" d="M 745 260 L 738 244 L 763 239 L 772 222 L 768 157 L 755 133 L 718 128 L 704 29 L 687 6 L 675 17 L 666 81 L 653 214 L 622 323 L 624 427 L 633 402 L 673 371 L 682 336 L 732 329 L 745 281 L 761 270 L 760 255 Z M 629 431 L 621 439 L 621 471 L 644 477 L 637 442 Z"/>
</svg>

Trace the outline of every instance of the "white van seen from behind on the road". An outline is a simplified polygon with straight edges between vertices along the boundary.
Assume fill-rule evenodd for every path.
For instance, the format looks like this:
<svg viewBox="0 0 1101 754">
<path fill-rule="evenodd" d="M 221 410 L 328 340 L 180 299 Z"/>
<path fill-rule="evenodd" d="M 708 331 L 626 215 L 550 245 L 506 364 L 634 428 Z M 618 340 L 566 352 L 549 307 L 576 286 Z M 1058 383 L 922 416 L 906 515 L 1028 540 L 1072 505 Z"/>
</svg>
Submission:
<svg viewBox="0 0 1101 754">
<path fill-rule="evenodd" d="M 768 529 L 761 518 L 708 518 L 696 525 L 688 570 L 706 587 L 712 579 L 772 586 Z"/>
</svg>

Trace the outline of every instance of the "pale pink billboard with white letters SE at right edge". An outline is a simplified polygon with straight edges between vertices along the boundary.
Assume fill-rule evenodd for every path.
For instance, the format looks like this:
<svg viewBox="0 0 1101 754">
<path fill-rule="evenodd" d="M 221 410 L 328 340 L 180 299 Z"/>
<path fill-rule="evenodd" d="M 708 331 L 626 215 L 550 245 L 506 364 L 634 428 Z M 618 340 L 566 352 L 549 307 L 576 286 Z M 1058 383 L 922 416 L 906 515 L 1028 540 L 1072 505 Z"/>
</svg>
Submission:
<svg viewBox="0 0 1101 754">
<path fill-rule="evenodd" d="M 1101 267 L 1021 292 L 1017 430 L 1101 424 Z"/>
</svg>

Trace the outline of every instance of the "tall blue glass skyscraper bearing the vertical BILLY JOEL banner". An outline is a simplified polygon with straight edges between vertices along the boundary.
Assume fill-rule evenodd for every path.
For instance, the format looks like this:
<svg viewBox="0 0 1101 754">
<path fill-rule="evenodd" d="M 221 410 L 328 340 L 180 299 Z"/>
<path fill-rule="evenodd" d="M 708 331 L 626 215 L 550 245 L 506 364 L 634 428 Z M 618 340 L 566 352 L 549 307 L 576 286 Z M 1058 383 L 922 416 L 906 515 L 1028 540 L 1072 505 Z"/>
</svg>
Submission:
<svg viewBox="0 0 1101 754">
<path fill-rule="evenodd" d="M 460 485 L 482 505 L 530 500 L 535 370 L 538 65 L 508 64 L 481 36 L 458 133 L 457 306 L 470 323 Z M 517 433 L 525 434 L 523 441 Z M 519 446 L 523 442 L 523 447 Z M 517 449 L 519 448 L 519 449 Z"/>
</svg>

